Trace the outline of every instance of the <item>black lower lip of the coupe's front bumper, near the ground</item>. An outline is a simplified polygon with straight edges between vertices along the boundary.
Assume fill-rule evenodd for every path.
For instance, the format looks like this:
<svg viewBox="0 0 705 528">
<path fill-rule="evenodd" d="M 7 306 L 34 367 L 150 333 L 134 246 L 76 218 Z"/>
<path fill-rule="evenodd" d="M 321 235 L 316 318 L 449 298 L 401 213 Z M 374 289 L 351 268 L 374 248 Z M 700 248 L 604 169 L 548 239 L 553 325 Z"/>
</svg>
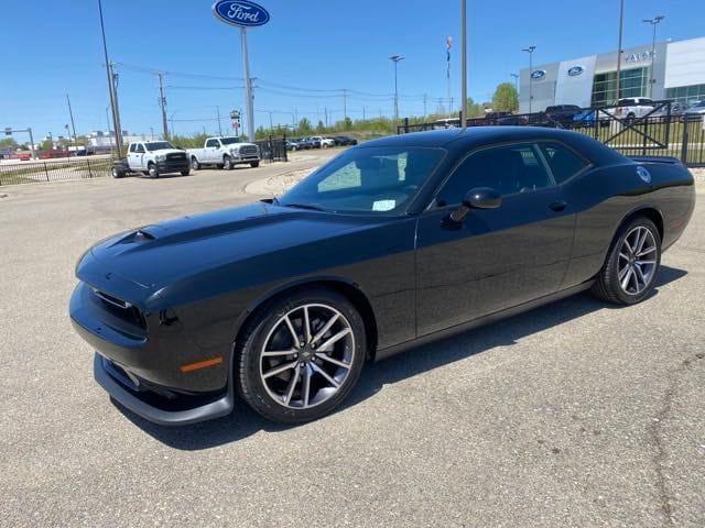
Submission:
<svg viewBox="0 0 705 528">
<path fill-rule="evenodd" d="M 134 385 L 134 381 L 120 373 L 116 365 L 96 352 L 93 363 L 94 376 L 98 385 L 135 415 L 161 426 L 186 426 L 229 415 L 234 408 L 232 380 L 229 380 L 225 395 L 195 407 L 185 407 L 187 402 L 166 400 L 156 397 L 149 388 Z M 230 376 L 231 377 L 231 376 Z"/>
</svg>

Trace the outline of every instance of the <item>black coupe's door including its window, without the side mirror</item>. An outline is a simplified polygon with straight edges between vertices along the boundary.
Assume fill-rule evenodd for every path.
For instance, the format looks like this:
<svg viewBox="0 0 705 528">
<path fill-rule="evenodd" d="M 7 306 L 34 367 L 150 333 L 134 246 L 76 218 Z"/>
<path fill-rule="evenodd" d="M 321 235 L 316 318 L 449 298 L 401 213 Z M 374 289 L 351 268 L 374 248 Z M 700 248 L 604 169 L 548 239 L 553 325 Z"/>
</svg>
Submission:
<svg viewBox="0 0 705 528">
<path fill-rule="evenodd" d="M 496 209 L 449 219 L 465 194 L 490 187 Z M 424 336 L 556 292 L 566 272 L 575 215 L 533 143 L 470 153 L 417 222 L 417 334 Z"/>
</svg>

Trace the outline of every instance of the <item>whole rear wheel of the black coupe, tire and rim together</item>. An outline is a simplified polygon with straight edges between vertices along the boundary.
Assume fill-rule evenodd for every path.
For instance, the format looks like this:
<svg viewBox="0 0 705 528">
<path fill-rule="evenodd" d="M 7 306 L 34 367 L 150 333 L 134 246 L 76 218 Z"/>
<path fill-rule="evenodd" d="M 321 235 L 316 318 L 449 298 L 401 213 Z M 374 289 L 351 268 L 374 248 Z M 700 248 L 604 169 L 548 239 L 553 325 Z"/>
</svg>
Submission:
<svg viewBox="0 0 705 528">
<path fill-rule="evenodd" d="M 638 217 L 622 226 L 593 293 L 610 302 L 634 305 L 651 294 L 661 265 L 661 237 L 654 223 Z"/>
</svg>

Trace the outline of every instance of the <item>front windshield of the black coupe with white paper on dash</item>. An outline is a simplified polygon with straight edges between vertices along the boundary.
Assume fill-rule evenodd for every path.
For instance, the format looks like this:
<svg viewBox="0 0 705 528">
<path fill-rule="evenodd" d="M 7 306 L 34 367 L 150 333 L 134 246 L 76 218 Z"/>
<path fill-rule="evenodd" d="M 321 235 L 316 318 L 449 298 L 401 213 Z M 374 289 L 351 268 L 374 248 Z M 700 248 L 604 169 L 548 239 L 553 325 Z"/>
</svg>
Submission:
<svg viewBox="0 0 705 528">
<path fill-rule="evenodd" d="M 299 183 L 279 202 L 329 211 L 398 213 L 444 154 L 441 148 L 351 148 Z"/>
</svg>

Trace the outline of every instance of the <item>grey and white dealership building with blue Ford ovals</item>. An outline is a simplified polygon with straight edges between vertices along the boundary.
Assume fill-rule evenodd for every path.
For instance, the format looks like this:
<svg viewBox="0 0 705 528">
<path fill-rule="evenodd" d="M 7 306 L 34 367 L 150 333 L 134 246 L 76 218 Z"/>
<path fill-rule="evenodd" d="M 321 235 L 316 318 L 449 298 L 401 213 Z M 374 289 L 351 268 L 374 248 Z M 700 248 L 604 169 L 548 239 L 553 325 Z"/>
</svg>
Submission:
<svg viewBox="0 0 705 528">
<path fill-rule="evenodd" d="M 522 69 L 521 113 L 529 112 L 530 82 L 533 112 L 553 105 L 611 105 L 618 99 L 617 52 Z M 705 37 L 625 50 L 619 92 L 619 98 L 650 97 L 685 103 L 705 99 Z"/>
</svg>

